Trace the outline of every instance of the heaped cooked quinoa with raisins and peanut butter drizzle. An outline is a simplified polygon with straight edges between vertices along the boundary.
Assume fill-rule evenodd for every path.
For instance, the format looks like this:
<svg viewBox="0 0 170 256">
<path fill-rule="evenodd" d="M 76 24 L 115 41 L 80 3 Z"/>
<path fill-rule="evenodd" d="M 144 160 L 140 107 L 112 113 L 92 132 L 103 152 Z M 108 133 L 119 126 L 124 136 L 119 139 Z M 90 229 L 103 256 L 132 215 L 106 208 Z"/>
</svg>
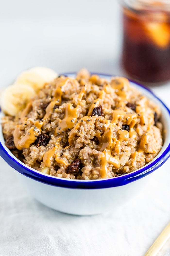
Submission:
<svg viewBox="0 0 170 256">
<path fill-rule="evenodd" d="M 68 179 L 133 172 L 162 147 L 160 110 L 123 77 L 82 69 L 46 84 L 17 116 L 3 118 L 5 144 L 26 165 Z"/>
</svg>

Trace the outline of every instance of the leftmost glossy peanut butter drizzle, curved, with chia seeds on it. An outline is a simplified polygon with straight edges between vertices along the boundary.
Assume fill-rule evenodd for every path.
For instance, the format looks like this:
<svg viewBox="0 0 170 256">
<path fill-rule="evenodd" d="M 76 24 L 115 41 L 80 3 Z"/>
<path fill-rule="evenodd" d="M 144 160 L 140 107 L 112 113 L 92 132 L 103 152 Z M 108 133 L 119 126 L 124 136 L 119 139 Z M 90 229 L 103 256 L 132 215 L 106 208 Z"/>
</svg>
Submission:
<svg viewBox="0 0 170 256">
<path fill-rule="evenodd" d="M 29 146 L 35 142 L 36 137 L 41 133 L 41 127 L 43 126 L 44 122 L 36 121 L 34 126 L 28 129 L 27 133 L 22 136 L 20 133 L 21 125 L 17 125 L 15 127 L 13 136 L 14 136 L 14 144 L 18 150 L 22 150 L 22 148 L 29 148 Z"/>
</svg>

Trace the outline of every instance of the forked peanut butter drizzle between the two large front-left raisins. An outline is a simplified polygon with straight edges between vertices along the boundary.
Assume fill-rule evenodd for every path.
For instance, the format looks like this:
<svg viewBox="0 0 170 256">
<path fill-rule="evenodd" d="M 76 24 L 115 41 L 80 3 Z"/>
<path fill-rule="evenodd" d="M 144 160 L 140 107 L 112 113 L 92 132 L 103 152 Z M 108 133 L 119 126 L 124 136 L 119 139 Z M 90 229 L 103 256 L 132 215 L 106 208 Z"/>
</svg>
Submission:
<svg viewBox="0 0 170 256">
<path fill-rule="evenodd" d="M 68 164 L 64 159 L 59 157 L 60 142 L 61 142 L 61 138 L 58 138 L 56 143 L 52 145 L 52 147 L 44 153 L 43 162 L 45 166 L 50 167 L 53 157 L 55 158 L 55 161 L 59 164 L 64 164 L 64 165 Z"/>
</svg>

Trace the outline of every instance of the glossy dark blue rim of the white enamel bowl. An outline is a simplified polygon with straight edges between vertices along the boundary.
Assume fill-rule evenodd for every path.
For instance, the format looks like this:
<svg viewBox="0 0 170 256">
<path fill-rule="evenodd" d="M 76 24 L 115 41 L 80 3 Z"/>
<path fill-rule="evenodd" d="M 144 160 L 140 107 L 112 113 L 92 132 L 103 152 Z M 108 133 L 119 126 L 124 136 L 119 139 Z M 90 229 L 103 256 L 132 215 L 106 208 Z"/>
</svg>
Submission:
<svg viewBox="0 0 170 256">
<path fill-rule="evenodd" d="M 67 72 L 67 73 L 62 73 L 62 75 L 67 75 L 67 74 L 74 75 L 75 73 L 76 72 Z M 102 74 L 102 73 L 96 73 L 96 72 L 91 72 L 91 74 L 98 74 L 100 76 L 109 76 L 109 77 L 113 76 L 110 74 Z M 167 110 L 170 116 L 170 111 L 167 108 L 167 106 L 149 88 L 131 79 L 128 79 L 128 80 L 144 88 L 149 93 L 151 93 L 164 106 L 164 108 Z M 6 151 L 1 141 L 0 141 L 0 155 L 12 168 L 17 170 L 19 173 L 31 179 L 34 179 L 38 182 L 42 182 L 48 185 L 53 185 L 58 187 L 64 187 L 64 188 L 101 189 L 101 188 L 110 188 L 110 187 L 126 185 L 135 180 L 141 179 L 142 177 L 158 169 L 163 163 L 166 162 L 166 160 L 170 156 L 170 143 L 168 144 L 166 149 L 163 151 L 163 153 L 155 161 L 153 161 L 150 164 L 147 164 L 146 166 L 140 168 L 139 170 L 136 170 L 135 172 L 131 172 L 122 176 L 117 176 L 117 177 L 108 178 L 108 179 L 100 179 L 100 180 L 70 180 L 70 179 L 58 178 L 58 177 L 42 174 L 41 172 L 35 171 L 32 168 L 28 168 L 27 165 L 23 165 L 19 160 L 16 160 L 15 158 L 13 158 Z"/>
</svg>

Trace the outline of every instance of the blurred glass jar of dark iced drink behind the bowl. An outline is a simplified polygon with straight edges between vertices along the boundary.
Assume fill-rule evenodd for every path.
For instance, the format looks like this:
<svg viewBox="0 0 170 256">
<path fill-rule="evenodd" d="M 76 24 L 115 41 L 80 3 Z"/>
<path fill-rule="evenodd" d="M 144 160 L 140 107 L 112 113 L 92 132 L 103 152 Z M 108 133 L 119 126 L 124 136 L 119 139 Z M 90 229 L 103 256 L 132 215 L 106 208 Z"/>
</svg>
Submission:
<svg viewBox="0 0 170 256">
<path fill-rule="evenodd" d="M 170 80 L 170 0 L 124 0 L 123 34 L 123 66 L 131 77 Z"/>
</svg>

